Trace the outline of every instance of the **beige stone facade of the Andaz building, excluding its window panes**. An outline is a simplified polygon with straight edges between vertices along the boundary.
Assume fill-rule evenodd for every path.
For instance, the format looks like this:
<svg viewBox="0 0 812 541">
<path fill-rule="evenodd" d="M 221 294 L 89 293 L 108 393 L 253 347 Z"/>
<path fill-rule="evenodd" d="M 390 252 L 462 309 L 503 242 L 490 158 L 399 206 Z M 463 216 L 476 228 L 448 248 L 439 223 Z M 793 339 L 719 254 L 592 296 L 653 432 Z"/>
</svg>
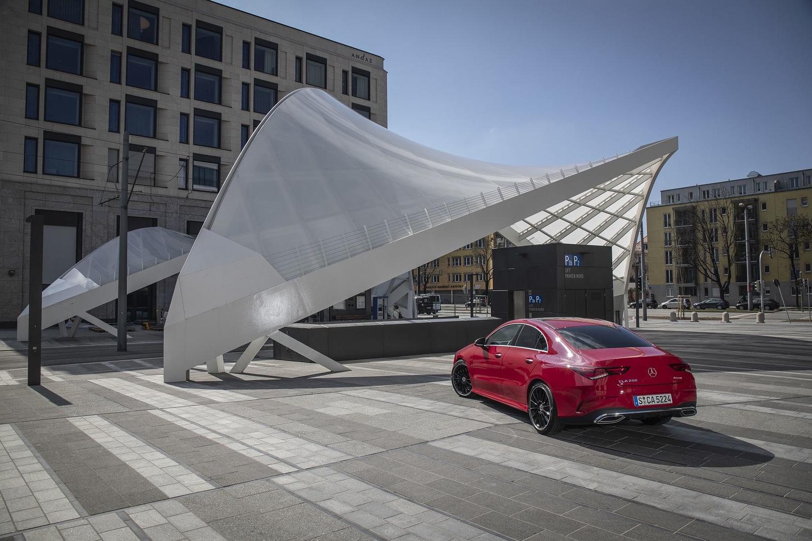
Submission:
<svg viewBox="0 0 812 541">
<path fill-rule="evenodd" d="M 82 24 L 50 16 L 59 15 L 58 8 L 63 3 L 81 6 Z M 37 11 L 40 4 L 41 14 L 29 11 Z M 121 6 L 120 36 L 114 34 L 115 6 Z M 129 10 L 134 6 L 150 9 L 156 15 L 157 43 L 129 36 L 132 22 Z M 143 4 L 121 2 L 120 5 L 109 0 L 9 0 L 0 2 L 0 18 L 3 50 L 0 59 L 0 324 L 15 321 L 28 303 L 26 217 L 44 210 L 80 213 L 77 245 L 81 256 L 118 234 L 119 200 L 115 197 L 121 167 L 117 162 L 121 155 L 127 101 L 140 98 L 157 104 L 155 137 L 131 135 L 130 138 L 133 145 L 131 183 L 136 177 L 141 150 L 147 148 L 147 153 L 130 201 L 129 215 L 152 218 L 155 225 L 183 233 L 196 232 L 216 196 L 214 191 L 195 189 L 193 165 L 198 157 L 219 161 L 218 184 L 222 184 L 240 153 L 242 130 L 247 127 L 248 133 L 253 132 L 265 116 L 254 110 L 257 81 L 270 87 L 275 85 L 275 98 L 279 101 L 288 92 L 307 85 L 308 58 L 326 59 L 326 91 L 348 106 L 368 110 L 369 118 L 387 126 L 387 72 L 383 58 L 209 0 L 149 0 Z M 222 28 L 222 61 L 197 54 L 196 32 L 201 25 Z M 184 26 L 189 32 L 189 52 L 183 52 Z M 38 55 L 32 52 L 37 35 Z M 80 75 L 50 69 L 54 58 L 49 58 L 49 54 L 54 53 L 48 45 L 49 36 L 73 36 L 83 42 Z M 277 75 L 254 69 L 257 67 L 255 46 L 267 45 L 266 42 L 276 45 Z M 244 43 L 248 44 L 248 67 L 243 67 Z M 110 81 L 111 53 L 116 52 L 122 55 L 120 84 Z M 155 90 L 127 84 L 128 52 L 157 58 Z M 297 63 L 300 63 L 298 70 Z M 362 91 L 355 95 L 353 68 L 369 73 L 368 96 Z M 184 69 L 189 73 L 189 97 L 181 97 Z M 219 103 L 195 99 L 196 72 L 204 70 L 220 73 Z M 343 84 L 345 76 L 346 84 Z M 250 85 L 250 110 L 243 109 L 243 84 Z M 26 115 L 28 85 L 38 86 L 36 118 Z M 81 87 L 78 125 L 45 120 L 48 115 L 46 88 L 60 86 Z M 110 131 L 111 100 L 119 101 L 119 131 Z M 219 115 L 218 148 L 192 144 L 196 110 Z M 180 142 L 180 114 L 188 114 L 189 143 Z M 76 176 L 45 174 L 46 134 L 80 138 Z M 24 161 L 26 138 L 36 140 L 36 157 L 28 164 Z M 181 173 L 184 160 L 185 176 Z M 32 163 L 35 164 L 33 170 Z M 168 309 L 173 288 L 174 279 L 158 284 L 155 298 L 158 311 Z M 102 307 L 96 315 L 112 317 L 113 310 L 112 305 Z"/>
</svg>

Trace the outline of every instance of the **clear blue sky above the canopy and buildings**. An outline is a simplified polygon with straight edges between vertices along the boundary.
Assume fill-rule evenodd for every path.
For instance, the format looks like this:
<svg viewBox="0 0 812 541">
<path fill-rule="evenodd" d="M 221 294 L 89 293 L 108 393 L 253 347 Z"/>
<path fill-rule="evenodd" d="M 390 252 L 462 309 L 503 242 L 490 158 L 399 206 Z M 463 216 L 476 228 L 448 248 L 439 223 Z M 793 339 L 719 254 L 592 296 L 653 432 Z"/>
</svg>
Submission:
<svg viewBox="0 0 812 541">
<path fill-rule="evenodd" d="M 679 135 L 659 190 L 812 167 L 812 0 L 221 0 L 380 54 L 389 128 L 563 165 Z"/>
</svg>

